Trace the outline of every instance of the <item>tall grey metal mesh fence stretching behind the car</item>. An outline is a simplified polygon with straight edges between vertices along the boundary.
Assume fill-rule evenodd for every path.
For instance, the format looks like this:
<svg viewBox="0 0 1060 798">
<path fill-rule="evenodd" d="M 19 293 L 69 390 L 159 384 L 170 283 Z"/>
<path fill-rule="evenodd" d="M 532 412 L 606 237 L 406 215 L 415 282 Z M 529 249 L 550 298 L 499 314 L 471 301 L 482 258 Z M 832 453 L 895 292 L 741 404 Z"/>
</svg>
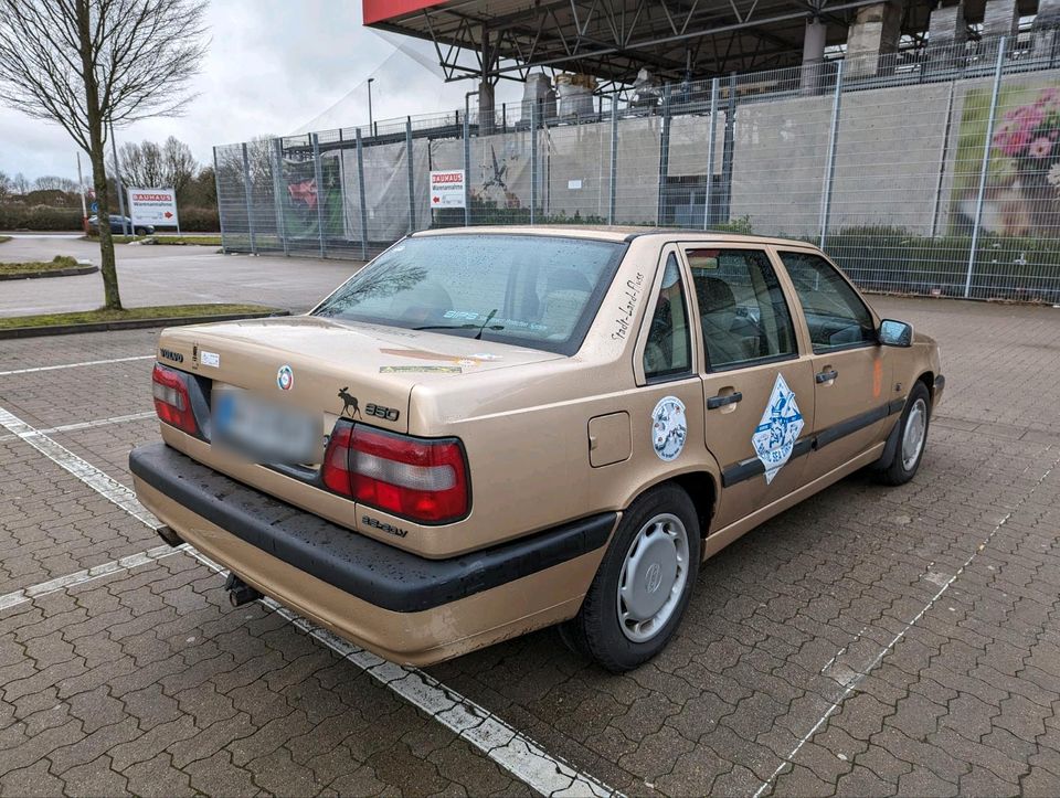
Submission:
<svg viewBox="0 0 1060 798">
<path fill-rule="evenodd" d="M 226 251 L 365 259 L 465 224 L 820 244 L 868 290 L 1060 301 L 1060 32 L 214 148 Z M 432 170 L 466 208 L 432 206 Z"/>
</svg>

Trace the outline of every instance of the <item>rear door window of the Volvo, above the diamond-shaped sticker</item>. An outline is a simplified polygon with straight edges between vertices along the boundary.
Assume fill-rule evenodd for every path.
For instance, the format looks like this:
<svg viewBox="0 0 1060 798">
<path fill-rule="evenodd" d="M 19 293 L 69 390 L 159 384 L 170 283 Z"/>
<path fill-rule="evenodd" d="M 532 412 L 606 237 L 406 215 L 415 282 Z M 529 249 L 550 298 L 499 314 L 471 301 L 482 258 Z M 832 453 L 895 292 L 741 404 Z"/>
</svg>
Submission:
<svg viewBox="0 0 1060 798">
<path fill-rule="evenodd" d="M 761 249 L 686 249 L 711 371 L 795 357 L 795 330 L 768 255 Z"/>
</svg>

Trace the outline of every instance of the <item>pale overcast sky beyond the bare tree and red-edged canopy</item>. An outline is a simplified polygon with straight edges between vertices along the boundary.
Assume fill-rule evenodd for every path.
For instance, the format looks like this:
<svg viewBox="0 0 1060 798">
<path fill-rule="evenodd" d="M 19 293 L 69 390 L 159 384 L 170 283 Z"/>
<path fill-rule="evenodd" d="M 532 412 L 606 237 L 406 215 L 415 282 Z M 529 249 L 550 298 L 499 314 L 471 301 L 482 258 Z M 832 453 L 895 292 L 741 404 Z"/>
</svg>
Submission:
<svg viewBox="0 0 1060 798">
<path fill-rule="evenodd" d="M 182 117 L 119 128 L 118 145 L 172 135 L 208 162 L 219 143 L 286 135 L 312 121 L 311 129 L 365 124 L 369 77 L 375 78 L 377 120 L 463 107 L 464 93 L 477 87 L 471 81 L 446 84 L 437 66 L 424 66 L 436 61 L 433 44 L 363 28 L 361 3 L 353 0 L 212 0 L 209 20 L 212 44 L 195 81 L 199 97 Z M 498 91 L 498 103 L 521 96 L 517 84 L 501 83 L 510 96 Z M 57 125 L 0 106 L 0 171 L 30 180 L 76 177 L 75 152 Z M 82 163 L 87 179 L 84 157 Z"/>
</svg>

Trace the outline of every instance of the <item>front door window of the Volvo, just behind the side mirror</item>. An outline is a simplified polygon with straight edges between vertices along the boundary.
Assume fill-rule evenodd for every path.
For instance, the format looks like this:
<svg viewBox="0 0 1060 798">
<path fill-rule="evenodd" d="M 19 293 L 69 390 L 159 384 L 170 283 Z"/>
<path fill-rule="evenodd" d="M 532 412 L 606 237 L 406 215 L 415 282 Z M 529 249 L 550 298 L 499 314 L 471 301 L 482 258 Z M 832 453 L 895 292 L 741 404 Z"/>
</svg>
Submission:
<svg viewBox="0 0 1060 798">
<path fill-rule="evenodd" d="M 780 255 L 803 305 L 814 352 L 877 342 L 872 313 L 835 266 L 812 253 Z"/>
</svg>

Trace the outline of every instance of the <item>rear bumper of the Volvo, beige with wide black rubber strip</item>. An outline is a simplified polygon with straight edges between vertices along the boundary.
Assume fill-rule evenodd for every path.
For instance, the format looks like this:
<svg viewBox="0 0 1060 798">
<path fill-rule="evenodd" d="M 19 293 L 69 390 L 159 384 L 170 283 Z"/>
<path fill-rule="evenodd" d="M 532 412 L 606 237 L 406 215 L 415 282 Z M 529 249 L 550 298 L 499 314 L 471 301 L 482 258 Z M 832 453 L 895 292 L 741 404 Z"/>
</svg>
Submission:
<svg viewBox="0 0 1060 798">
<path fill-rule="evenodd" d="M 617 521 L 605 513 L 427 560 L 274 499 L 165 444 L 135 449 L 129 466 L 140 501 L 181 540 L 265 595 L 412 664 L 573 616 Z"/>
</svg>

